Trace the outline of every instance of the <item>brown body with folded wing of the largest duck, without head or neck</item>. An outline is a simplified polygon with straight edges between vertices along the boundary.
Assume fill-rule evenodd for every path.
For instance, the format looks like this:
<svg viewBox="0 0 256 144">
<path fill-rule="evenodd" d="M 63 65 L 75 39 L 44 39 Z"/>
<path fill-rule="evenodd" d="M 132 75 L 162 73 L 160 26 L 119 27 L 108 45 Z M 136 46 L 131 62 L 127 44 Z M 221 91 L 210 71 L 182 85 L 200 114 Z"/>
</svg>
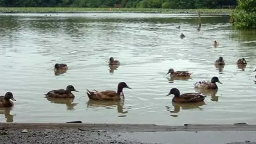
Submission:
<svg viewBox="0 0 256 144">
<path fill-rule="evenodd" d="M 120 95 L 114 90 L 95 91 L 87 90 L 87 96 L 91 100 L 120 100 Z"/>
</svg>

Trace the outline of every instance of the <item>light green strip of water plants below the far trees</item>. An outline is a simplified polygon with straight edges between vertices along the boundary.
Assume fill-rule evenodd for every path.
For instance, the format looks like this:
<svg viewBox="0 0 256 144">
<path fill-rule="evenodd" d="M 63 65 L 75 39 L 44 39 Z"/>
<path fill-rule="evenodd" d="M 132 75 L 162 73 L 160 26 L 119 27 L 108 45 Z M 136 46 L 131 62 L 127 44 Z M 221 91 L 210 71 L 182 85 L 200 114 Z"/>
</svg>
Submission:
<svg viewBox="0 0 256 144">
<path fill-rule="evenodd" d="M 22 7 L 22 8 L 1 8 L 4 13 L 56 13 L 56 12 L 143 12 L 143 13 L 232 13 L 232 9 L 161 9 L 161 8 L 64 8 L 64 7 Z"/>
</svg>

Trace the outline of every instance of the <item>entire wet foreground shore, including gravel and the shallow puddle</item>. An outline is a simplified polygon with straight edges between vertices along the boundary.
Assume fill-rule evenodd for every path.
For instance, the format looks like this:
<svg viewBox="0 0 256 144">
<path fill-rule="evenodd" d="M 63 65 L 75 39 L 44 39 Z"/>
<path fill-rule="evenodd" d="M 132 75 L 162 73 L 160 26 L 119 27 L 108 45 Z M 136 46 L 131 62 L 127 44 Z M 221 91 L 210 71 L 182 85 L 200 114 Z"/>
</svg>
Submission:
<svg viewBox="0 0 256 144">
<path fill-rule="evenodd" d="M 198 142 L 256 144 L 252 142 L 256 141 L 255 131 L 256 125 L 231 124 L 159 126 L 155 124 L 0 123 L 0 143 L 178 144 L 186 141 L 189 144 Z M 183 138 L 184 135 L 186 138 Z M 211 136 L 217 136 L 218 140 Z M 200 141 L 197 137 L 203 138 Z"/>
</svg>

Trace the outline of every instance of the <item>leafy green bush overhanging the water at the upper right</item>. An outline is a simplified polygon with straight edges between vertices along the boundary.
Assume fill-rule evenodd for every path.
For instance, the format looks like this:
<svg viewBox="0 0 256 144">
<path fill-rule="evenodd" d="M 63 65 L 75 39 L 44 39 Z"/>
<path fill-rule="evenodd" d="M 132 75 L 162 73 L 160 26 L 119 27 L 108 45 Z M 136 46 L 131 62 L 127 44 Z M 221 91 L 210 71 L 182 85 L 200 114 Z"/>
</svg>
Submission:
<svg viewBox="0 0 256 144">
<path fill-rule="evenodd" d="M 238 0 L 230 22 L 238 29 L 256 29 L 256 0 Z"/>
</svg>

